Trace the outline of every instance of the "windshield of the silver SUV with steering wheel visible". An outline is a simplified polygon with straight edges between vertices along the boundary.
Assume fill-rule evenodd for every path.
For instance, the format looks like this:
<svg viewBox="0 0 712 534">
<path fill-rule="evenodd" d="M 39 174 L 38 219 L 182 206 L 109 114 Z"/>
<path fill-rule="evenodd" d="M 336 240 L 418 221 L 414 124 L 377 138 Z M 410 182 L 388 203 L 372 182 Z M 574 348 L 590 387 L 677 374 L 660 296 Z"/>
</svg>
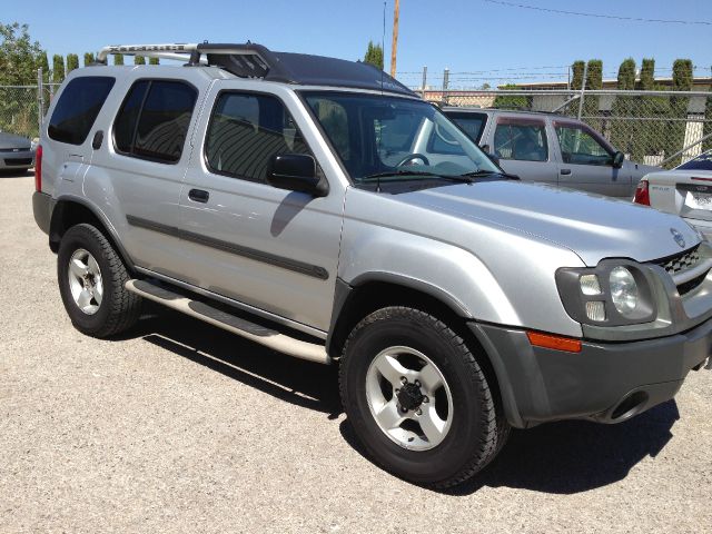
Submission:
<svg viewBox="0 0 712 534">
<path fill-rule="evenodd" d="M 501 172 L 427 102 L 334 91 L 305 98 L 356 186 Z"/>
</svg>

